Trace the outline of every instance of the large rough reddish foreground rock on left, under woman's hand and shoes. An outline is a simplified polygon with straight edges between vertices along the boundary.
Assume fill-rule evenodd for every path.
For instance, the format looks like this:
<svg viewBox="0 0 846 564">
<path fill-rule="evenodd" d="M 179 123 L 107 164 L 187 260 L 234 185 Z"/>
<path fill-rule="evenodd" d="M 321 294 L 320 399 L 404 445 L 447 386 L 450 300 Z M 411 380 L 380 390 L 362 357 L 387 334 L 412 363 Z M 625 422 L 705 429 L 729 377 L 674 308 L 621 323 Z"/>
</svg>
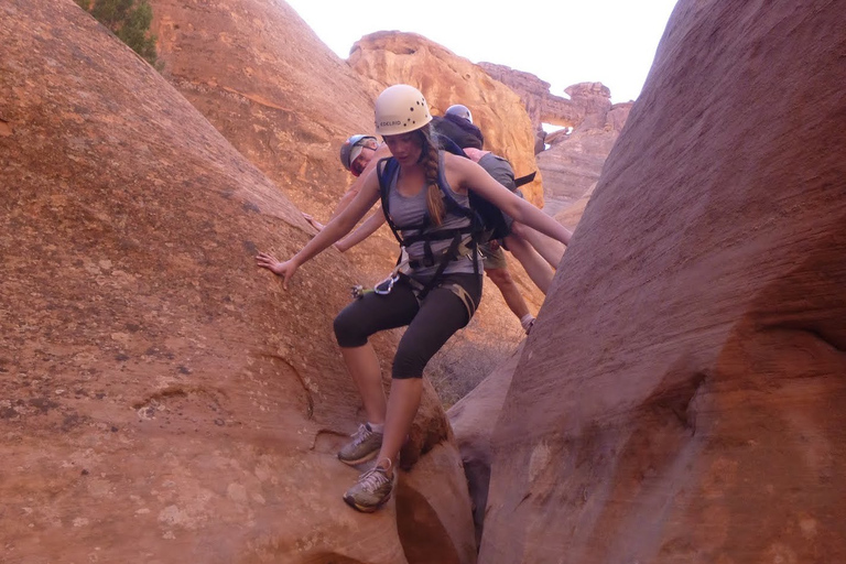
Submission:
<svg viewBox="0 0 846 564">
<path fill-rule="evenodd" d="M 253 257 L 311 230 L 185 98 L 74 2 L 0 21 L 1 560 L 474 562 L 431 390 L 397 500 L 340 500 L 352 265 L 329 251 L 284 292 Z"/>
</svg>

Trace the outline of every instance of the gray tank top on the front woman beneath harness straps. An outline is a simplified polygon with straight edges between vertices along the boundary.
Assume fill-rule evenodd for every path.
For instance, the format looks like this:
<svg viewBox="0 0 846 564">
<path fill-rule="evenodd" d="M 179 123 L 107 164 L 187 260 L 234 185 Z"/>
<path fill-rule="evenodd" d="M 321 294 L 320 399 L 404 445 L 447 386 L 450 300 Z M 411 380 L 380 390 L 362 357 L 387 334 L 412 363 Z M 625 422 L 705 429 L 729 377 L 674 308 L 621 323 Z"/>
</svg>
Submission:
<svg viewBox="0 0 846 564">
<path fill-rule="evenodd" d="M 440 166 L 443 167 L 443 151 L 438 154 L 440 159 Z M 398 170 L 399 173 L 399 170 Z M 423 218 L 426 215 L 426 191 L 427 188 L 423 186 L 423 188 L 414 196 L 406 197 L 400 194 L 400 192 L 397 189 L 397 177 L 398 174 L 393 176 L 390 181 L 390 187 L 388 191 L 388 209 L 390 209 L 391 214 L 391 220 L 393 224 L 399 228 L 400 234 L 402 235 L 402 238 L 406 238 L 412 235 L 417 235 L 420 232 L 419 229 L 410 229 L 409 226 L 417 226 L 423 221 Z M 455 198 L 455 200 L 462 207 L 469 207 L 469 197 L 467 194 L 459 194 L 457 192 L 454 192 L 452 187 L 447 186 L 447 189 L 452 194 L 452 196 Z M 434 230 L 441 230 L 441 229 L 455 229 L 455 228 L 462 228 L 467 227 L 470 225 L 470 220 L 467 217 L 460 216 L 458 214 L 455 214 L 453 212 L 449 212 L 447 209 L 446 214 L 444 215 L 444 221 L 440 226 L 430 225 L 430 227 L 426 229 L 426 231 L 434 231 Z M 467 234 L 465 236 L 465 242 L 469 246 L 469 239 L 470 236 Z M 427 282 L 434 274 L 435 271 L 437 271 L 437 267 L 440 265 L 440 256 L 443 251 L 445 251 L 447 248 L 449 248 L 449 245 L 452 243 L 452 239 L 443 239 L 443 240 L 434 240 L 429 241 L 429 245 L 432 247 L 432 252 L 434 253 L 437 259 L 435 260 L 435 264 L 432 267 L 419 267 L 414 269 L 412 272 L 409 273 L 413 279 L 420 281 L 420 282 Z M 417 241 L 412 245 L 410 245 L 405 250 L 409 253 L 409 258 L 414 260 L 424 260 L 425 258 L 425 250 L 424 250 L 425 241 Z M 477 253 L 478 254 L 478 253 Z M 476 272 L 482 271 L 482 264 L 481 264 L 481 257 L 477 257 L 477 270 Z M 464 273 L 464 274 L 473 274 L 474 273 L 474 264 L 473 264 L 473 252 L 469 254 L 465 254 L 463 257 L 458 257 L 456 260 L 449 261 L 449 263 L 446 265 L 446 269 L 444 270 L 445 274 L 454 274 L 454 273 Z"/>
</svg>

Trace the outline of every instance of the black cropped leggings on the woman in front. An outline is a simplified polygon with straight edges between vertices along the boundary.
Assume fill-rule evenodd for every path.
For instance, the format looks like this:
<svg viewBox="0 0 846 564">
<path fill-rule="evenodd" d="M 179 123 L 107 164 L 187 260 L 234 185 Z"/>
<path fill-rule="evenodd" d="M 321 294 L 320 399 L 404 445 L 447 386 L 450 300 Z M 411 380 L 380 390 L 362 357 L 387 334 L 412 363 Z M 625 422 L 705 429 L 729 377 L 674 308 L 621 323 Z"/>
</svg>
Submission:
<svg viewBox="0 0 846 564">
<path fill-rule="evenodd" d="M 481 275 L 447 274 L 422 304 L 411 286 L 400 280 L 390 294 L 373 292 L 356 300 L 335 317 L 335 337 L 345 348 L 361 347 L 373 333 L 408 325 L 397 347 L 391 376 L 397 379 L 422 378 L 423 368 L 455 332 L 470 322 L 467 307 L 449 289 L 458 284 L 475 306 L 481 300 Z"/>
</svg>

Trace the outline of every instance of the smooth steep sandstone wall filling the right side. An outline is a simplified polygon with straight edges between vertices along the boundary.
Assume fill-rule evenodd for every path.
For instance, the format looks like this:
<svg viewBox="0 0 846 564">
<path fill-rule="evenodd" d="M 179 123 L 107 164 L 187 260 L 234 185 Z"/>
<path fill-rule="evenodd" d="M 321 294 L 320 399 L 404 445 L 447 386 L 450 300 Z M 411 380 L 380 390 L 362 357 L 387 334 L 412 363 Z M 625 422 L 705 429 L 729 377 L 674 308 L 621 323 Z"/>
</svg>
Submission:
<svg viewBox="0 0 846 564">
<path fill-rule="evenodd" d="M 846 561 L 846 12 L 682 0 L 529 337 L 479 561 Z"/>
</svg>

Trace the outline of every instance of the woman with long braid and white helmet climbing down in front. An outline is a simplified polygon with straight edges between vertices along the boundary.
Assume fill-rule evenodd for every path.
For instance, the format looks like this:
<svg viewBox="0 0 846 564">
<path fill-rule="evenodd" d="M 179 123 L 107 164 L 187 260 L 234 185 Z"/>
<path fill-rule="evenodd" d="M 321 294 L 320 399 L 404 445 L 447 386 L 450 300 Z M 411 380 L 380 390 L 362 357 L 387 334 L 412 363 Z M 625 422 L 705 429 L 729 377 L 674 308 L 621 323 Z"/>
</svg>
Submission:
<svg viewBox="0 0 846 564">
<path fill-rule="evenodd" d="M 376 132 L 393 154 L 381 162 L 384 166 L 397 163 L 384 193 L 378 171 L 369 173 L 349 206 L 291 259 L 280 262 L 267 252 L 256 258 L 259 268 L 281 276 L 288 289 L 304 262 L 349 232 L 377 202 L 389 203 L 387 215 L 405 242 L 410 270 L 354 300 L 334 323 L 367 415 L 338 458 L 349 465 L 376 458 L 376 465 L 344 495 L 346 503 L 365 512 L 379 509 L 394 489 L 400 447 L 420 406 L 424 367 L 469 323 L 481 297 L 478 226 L 468 206 L 470 194 L 564 245 L 571 238 L 564 226 L 509 192 L 478 164 L 440 151 L 432 138 L 429 106 L 416 88 L 387 88 L 377 98 L 375 110 Z M 379 360 L 368 338 L 402 326 L 408 328 L 397 347 L 386 399 Z"/>
</svg>

